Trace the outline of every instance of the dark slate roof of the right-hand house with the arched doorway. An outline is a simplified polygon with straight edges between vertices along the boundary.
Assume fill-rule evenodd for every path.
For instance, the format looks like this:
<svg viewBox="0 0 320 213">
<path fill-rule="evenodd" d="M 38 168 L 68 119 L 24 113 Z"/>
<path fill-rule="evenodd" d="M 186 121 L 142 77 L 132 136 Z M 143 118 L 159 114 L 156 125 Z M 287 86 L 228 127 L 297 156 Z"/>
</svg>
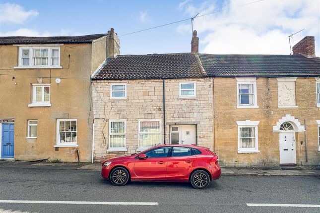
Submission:
<svg viewBox="0 0 320 213">
<path fill-rule="evenodd" d="M 199 54 L 208 76 L 320 76 L 319 58 L 303 55 Z"/>
</svg>

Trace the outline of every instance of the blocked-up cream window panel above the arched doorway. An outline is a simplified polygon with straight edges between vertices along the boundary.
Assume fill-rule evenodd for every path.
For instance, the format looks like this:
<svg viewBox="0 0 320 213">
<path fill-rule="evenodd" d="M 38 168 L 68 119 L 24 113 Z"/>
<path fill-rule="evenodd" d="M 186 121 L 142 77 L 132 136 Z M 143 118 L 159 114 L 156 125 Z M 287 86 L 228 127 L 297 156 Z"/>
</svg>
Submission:
<svg viewBox="0 0 320 213">
<path fill-rule="evenodd" d="M 296 79 L 297 78 L 277 78 L 279 108 L 298 107 L 296 106 Z"/>
</svg>

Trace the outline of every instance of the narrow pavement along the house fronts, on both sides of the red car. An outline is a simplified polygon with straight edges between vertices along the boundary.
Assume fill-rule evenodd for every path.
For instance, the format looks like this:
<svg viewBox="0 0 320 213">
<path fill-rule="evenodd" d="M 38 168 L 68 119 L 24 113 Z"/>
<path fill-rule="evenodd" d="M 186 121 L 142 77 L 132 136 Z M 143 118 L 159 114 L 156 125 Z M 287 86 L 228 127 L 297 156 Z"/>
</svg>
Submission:
<svg viewBox="0 0 320 213">
<path fill-rule="evenodd" d="M 0 161 L 0 165 L 14 166 L 25 165 L 27 167 L 46 166 L 52 169 L 82 169 L 82 170 L 100 170 L 101 163 L 75 163 L 75 162 L 57 162 L 49 161 Z M 290 167 L 289 167 L 290 168 Z M 301 169 L 301 168 L 300 168 Z M 314 169 L 261 169 L 261 168 L 231 168 L 222 167 L 222 175 L 240 175 L 240 176 L 316 176 L 320 177 L 320 170 Z"/>
</svg>

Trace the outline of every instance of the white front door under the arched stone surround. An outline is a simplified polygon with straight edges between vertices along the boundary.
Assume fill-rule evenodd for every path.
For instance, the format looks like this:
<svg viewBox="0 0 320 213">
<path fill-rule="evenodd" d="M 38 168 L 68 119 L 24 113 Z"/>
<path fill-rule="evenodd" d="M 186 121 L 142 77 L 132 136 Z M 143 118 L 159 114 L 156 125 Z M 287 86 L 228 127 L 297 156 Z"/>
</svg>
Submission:
<svg viewBox="0 0 320 213">
<path fill-rule="evenodd" d="M 296 163 L 296 139 L 294 132 L 280 132 L 280 164 Z"/>
</svg>

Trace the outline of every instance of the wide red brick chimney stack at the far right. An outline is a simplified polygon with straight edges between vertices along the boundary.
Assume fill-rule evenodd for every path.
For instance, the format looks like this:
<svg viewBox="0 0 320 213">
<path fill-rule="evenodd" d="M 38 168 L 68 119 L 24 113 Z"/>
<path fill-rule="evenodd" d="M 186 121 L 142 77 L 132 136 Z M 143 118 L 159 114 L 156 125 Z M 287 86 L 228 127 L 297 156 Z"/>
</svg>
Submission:
<svg viewBox="0 0 320 213">
<path fill-rule="evenodd" d="M 306 36 L 292 47 L 293 54 L 302 54 L 306 57 L 316 57 L 315 37 Z"/>
</svg>

